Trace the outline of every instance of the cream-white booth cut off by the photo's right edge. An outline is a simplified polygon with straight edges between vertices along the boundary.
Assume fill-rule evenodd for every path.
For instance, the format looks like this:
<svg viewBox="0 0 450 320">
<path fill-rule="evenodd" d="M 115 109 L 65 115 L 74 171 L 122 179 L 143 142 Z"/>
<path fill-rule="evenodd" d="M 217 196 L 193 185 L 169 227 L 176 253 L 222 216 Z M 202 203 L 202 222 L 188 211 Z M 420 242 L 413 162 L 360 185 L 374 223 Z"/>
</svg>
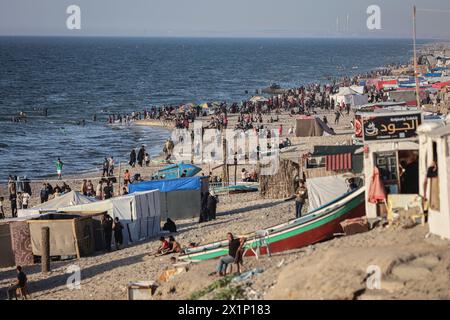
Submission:
<svg viewBox="0 0 450 320">
<path fill-rule="evenodd" d="M 420 195 L 428 199 L 430 233 L 450 239 L 450 124 L 426 123 L 419 127 Z M 435 161 L 436 177 L 427 177 Z"/>
</svg>

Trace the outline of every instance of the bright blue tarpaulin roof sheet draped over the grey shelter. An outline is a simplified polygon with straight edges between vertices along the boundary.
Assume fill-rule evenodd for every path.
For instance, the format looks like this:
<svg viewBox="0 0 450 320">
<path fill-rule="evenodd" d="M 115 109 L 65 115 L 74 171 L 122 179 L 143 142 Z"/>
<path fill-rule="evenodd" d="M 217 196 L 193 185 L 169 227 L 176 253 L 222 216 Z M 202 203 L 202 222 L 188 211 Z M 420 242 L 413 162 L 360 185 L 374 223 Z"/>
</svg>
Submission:
<svg viewBox="0 0 450 320">
<path fill-rule="evenodd" d="M 200 188 L 201 177 L 145 181 L 128 186 L 130 193 L 148 190 L 159 190 L 160 192 L 200 190 Z"/>
</svg>

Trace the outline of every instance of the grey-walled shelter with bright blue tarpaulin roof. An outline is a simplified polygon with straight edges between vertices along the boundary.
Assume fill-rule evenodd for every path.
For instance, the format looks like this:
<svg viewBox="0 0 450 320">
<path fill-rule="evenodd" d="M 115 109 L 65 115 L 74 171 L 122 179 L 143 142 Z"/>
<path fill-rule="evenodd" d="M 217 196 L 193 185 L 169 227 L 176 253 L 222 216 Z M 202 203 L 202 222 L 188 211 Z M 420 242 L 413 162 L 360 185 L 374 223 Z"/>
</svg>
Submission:
<svg viewBox="0 0 450 320">
<path fill-rule="evenodd" d="M 196 218 L 201 212 L 201 194 L 209 190 L 208 177 L 144 181 L 130 184 L 129 192 L 159 190 L 161 218 Z"/>
</svg>

